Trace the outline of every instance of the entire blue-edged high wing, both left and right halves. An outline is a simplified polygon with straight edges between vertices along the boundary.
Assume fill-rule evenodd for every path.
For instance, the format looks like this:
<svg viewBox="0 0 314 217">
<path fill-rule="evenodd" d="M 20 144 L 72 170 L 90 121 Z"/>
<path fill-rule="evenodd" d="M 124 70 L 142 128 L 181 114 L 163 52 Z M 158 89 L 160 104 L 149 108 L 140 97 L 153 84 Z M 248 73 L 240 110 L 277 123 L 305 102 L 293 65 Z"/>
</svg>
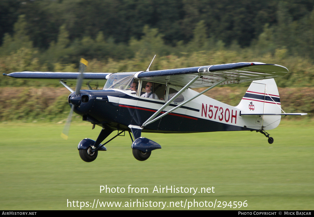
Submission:
<svg viewBox="0 0 314 217">
<path fill-rule="evenodd" d="M 134 77 L 139 80 L 167 83 L 176 86 L 185 86 L 196 76 L 199 78 L 189 85 L 194 87 L 211 87 L 216 83 L 231 84 L 240 82 L 252 82 L 255 80 L 282 77 L 288 72 L 284 66 L 265 64 L 260 62 L 240 62 L 211 66 L 198 66 L 181 69 L 168 69 L 157 71 L 140 71 Z M 75 85 L 79 72 L 13 72 L 3 74 L 14 78 L 32 79 L 51 82 L 59 80 L 68 86 Z M 111 73 L 83 73 L 83 85 L 103 87 L 106 76 Z"/>
</svg>

